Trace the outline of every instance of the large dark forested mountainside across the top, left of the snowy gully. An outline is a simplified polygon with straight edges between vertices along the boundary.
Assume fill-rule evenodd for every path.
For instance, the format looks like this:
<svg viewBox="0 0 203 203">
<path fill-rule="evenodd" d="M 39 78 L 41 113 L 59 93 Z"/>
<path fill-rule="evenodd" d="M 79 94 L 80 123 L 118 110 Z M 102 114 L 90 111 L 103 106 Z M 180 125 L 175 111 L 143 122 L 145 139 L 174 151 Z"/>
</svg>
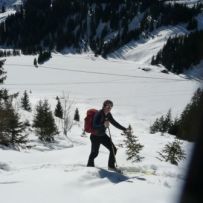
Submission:
<svg viewBox="0 0 203 203">
<path fill-rule="evenodd" d="M 0 25 L 0 44 L 24 54 L 90 47 L 105 57 L 162 25 L 189 23 L 200 10 L 159 0 L 27 0 Z"/>
</svg>

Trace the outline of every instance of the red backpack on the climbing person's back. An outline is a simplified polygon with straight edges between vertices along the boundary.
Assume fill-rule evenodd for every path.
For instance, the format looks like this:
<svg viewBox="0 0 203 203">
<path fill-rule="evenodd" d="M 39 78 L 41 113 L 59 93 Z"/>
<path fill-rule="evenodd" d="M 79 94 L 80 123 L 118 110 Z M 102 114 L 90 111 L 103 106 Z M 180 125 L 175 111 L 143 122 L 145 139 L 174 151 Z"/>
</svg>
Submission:
<svg viewBox="0 0 203 203">
<path fill-rule="evenodd" d="M 85 122 L 84 122 L 84 130 L 87 133 L 91 133 L 93 135 L 96 134 L 95 130 L 93 129 L 93 119 L 94 115 L 98 112 L 96 109 L 89 109 L 87 110 Z"/>
</svg>

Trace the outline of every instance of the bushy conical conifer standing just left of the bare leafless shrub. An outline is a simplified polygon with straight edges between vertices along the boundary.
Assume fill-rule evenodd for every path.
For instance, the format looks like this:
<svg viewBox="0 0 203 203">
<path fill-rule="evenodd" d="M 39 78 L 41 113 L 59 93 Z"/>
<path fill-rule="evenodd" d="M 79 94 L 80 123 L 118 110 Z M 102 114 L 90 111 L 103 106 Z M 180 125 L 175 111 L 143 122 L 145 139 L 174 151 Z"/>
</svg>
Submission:
<svg viewBox="0 0 203 203">
<path fill-rule="evenodd" d="M 33 127 L 39 139 L 45 142 L 54 141 L 54 136 L 58 134 L 58 129 L 47 100 L 39 101 L 33 120 Z"/>
</svg>

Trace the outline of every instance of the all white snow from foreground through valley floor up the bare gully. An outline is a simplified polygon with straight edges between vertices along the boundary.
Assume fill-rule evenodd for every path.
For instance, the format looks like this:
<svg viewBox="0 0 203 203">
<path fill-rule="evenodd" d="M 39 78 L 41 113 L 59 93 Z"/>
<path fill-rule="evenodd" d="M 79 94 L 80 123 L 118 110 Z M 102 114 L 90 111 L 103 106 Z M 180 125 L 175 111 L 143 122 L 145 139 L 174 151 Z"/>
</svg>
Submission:
<svg viewBox="0 0 203 203">
<path fill-rule="evenodd" d="M 163 67 L 151 66 L 149 61 L 170 33 L 179 29 L 159 30 L 150 39 L 128 45 L 108 60 L 95 58 L 92 53 L 55 53 L 47 63 L 35 68 L 36 56 L 7 58 L 7 80 L 1 87 L 19 92 L 20 96 L 27 90 L 33 109 L 40 99 L 48 99 L 54 110 L 56 96 L 68 95 L 74 103 L 73 112 L 79 109 L 81 121 L 68 133 L 69 139 L 60 133 L 55 144 L 42 144 L 30 132 L 31 149 L 0 149 L 2 202 L 177 202 L 192 144 L 184 142 L 187 159 L 179 166 L 161 162 L 157 152 L 174 137 L 151 135 L 149 126 L 169 109 L 173 117 L 180 115 L 200 83 L 184 75 L 161 73 Z M 88 108 L 100 109 L 105 99 L 114 102 L 114 118 L 126 127 L 131 124 L 144 145 L 142 162 L 126 161 L 123 136 L 110 127 L 118 147 L 117 163 L 126 169 L 125 175 L 106 170 L 108 151 L 103 147 L 95 160 L 96 167 L 85 167 L 90 153 L 88 135 L 81 136 L 85 112 Z M 32 122 L 32 113 L 20 112 L 22 119 Z"/>
</svg>

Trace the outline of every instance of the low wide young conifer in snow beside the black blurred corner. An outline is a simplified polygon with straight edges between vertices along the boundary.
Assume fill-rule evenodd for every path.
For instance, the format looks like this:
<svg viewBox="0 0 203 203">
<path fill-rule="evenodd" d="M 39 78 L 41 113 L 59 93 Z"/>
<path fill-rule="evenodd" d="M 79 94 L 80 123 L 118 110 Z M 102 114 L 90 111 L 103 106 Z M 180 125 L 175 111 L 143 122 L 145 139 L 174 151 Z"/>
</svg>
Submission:
<svg viewBox="0 0 203 203">
<path fill-rule="evenodd" d="M 178 165 L 179 161 L 185 159 L 185 152 L 181 148 L 182 142 L 177 138 L 172 142 L 165 145 L 161 152 L 158 152 L 161 161 L 170 162 L 171 164 Z"/>
</svg>

